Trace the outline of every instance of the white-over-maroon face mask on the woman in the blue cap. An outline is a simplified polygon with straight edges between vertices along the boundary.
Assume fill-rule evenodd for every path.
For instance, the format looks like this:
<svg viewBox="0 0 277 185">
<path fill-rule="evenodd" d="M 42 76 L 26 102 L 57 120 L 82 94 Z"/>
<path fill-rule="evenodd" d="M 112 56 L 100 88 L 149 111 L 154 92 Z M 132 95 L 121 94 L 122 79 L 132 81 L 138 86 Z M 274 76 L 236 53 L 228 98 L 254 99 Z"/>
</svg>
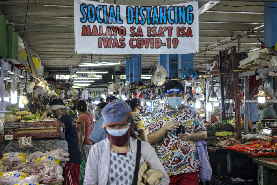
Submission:
<svg viewBox="0 0 277 185">
<path fill-rule="evenodd" d="M 125 143 L 127 143 L 127 141 L 129 140 L 129 138 L 131 136 L 131 128 L 130 128 L 130 126 L 127 127 L 127 128 L 119 129 L 119 130 L 108 130 L 108 129 L 106 129 L 105 132 L 106 132 L 108 140 L 113 145 L 115 145 L 117 147 L 122 147 L 123 145 L 125 145 Z M 121 136 L 113 136 L 111 134 L 114 134 L 114 135 L 121 135 L 121 134 L 123 134 L 123 135 L 121 135 Z"/>
</svg>

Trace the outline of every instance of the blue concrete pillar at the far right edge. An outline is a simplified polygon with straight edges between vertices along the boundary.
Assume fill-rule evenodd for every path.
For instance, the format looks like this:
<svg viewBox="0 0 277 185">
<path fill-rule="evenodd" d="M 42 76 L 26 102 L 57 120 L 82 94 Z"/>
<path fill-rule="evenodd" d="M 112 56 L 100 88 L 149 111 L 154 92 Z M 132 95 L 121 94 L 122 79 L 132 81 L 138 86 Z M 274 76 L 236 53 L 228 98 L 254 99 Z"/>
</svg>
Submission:
<svg viewBox="0 0 277 185">
<path fill-rule="evenodd" d="M 265 2 L 265 6 L 277 7 L 277 2 Z M 275 46 L 277 42 L 277 8 L 265 7 L 265 44 Z M 273 77 L 269 77 L 270 85 L 273 86 Z"/>
</svg>

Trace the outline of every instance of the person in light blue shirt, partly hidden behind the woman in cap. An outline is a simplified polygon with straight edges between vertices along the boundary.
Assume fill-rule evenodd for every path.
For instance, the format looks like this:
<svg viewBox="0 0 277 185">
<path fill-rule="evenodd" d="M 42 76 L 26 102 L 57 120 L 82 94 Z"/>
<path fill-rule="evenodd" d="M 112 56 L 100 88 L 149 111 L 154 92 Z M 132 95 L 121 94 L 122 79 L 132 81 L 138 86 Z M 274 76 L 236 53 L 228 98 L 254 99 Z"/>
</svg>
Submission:
<svg viewBox="0 0 277 185">
<path fill-rule="evenodd" d="M 98 116 L 100 116 L 99 117 L 99 119 L 94 123 L 94 125 L 93 125 L 93 129 L 92 129 L 92 132 L 91 132 L 91 134 L 90 134 L 90 136 L 89 136 L 89 140 L 91 141 L 91 142 L 94 142 L 94 143 L 98 143 L 98 142 L 100 142 L 100 141 L 102 141 L 102 140 L 104 140 L 104 139 L 106 139 L 106 133 L 105 133 L 105 129 L 104 128 L 102 128 L 102 124 L 103 124 L 103 117 L 102 117 L 102 115 L 101 115 L 101 112 L 102 112 L 102 109 L 106 106 L 106 105 L 108 105 L 108 103 L 107 102 L 101 102 L 101 103 L 98 103 L 97 104 L 97 108 L 96 108 L 96 114 L 98 115 Z"/>
</svg>

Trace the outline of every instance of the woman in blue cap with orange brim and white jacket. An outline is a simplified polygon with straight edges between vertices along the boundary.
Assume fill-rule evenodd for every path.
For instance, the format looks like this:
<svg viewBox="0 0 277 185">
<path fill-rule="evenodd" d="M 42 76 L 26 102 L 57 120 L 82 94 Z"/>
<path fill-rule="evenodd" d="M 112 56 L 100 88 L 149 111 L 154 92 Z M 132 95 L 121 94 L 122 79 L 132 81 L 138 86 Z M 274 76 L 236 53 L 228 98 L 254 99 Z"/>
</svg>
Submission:
<svg viewBox="0 0 277 185">
<path fill-rule="evenodd" d="M 86 164 L 83 185 L 92 184 L 132 184 L 136 166 L 137 139 L 131 136 L 134 117 L 131 108 L 124 101 L 109 103 L 102 110 L 103 128 L 107 138 L 94 144 Z M 164 175 L 160 185 L 169 184 L 169 177 L 164 171 L 154 149 L 149 143 L 141 141 L 141 164 L 149 162 L 151 169 Z"/>
</svg>

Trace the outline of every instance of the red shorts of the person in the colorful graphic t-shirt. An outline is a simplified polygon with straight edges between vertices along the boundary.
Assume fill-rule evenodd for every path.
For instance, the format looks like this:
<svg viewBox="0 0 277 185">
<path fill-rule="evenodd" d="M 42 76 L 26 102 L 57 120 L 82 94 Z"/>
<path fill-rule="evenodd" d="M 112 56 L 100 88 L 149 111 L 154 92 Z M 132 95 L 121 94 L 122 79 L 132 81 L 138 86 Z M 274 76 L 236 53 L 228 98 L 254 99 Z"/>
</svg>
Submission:
<svg viewBox="0 0 277 185">
<path fill-rule="evenodd" d="M 169 185 L 199 185 L 198 172 L 182 173 L 169 176 Z"/>
</svg>

